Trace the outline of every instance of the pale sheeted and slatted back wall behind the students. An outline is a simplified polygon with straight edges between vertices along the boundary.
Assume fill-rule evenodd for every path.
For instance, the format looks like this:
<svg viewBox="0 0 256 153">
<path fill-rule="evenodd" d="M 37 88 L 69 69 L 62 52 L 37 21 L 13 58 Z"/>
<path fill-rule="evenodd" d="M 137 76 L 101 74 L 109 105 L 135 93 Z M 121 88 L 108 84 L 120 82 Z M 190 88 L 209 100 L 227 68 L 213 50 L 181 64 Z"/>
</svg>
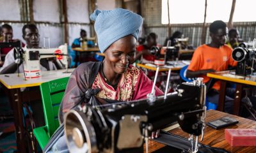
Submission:
<svg viewBox="0 0 256 153">
<path fill-rule="evenodd" d="M 25 8 L 22 5 L 22 1 L 28 0 L 0 0 L 0 22 L 2 24 L 8 23 L 13 26 L 13 38 L 18 38 L 22 41 L 22 26 L 29 22 L 29 16 L 24 17 L 22 13 Z M 95 0 L 95 8 L 99 10 L 113 10 L 114 8 L 120 8 L 127 6 L 127 8 L 136 13 L 141 13 L 143 17 L 143 28 L 141 29 L 140 36 L 145 37 L 149 33 L 156 33 L 158 35 L 158 43 L 164 43 L 164 40 L 168 37 L 167 25 L 161 24 L 161 0 Z M 141 9 L 136 7 L 139 3 Z M 81 29 L 85 29 L 90 36 L 93 30 L 93 25 L 90 24 L 90 12 L 89 12 L 90 0 L 67 0 L 67 15 L 68 15 L 68 44 L 71 45 L 75 38 L 79 37 Z M 22 8 L 22 7 L 23 8 Z M 12 10 L 12 11 L 10 11 Z M 51 47 L 58 47 L 63 44 L 64 41 L 64 27 L 63 27 L 63 15 L 61 13 L 61 0 L 33 0 L 33 16 L 38 26 L 40 33 L 40 45 L 44 45 L 44 38 L 51 39 Z M 29 12 L 28 12 L 29 13 Z M 4 22 L 8 20 L 10 22 Z M 207 24 L 206 43 L 211 41 L 209 37 L 209 24 Z M 256 22 L 235 22 L 236 27 L 241 38 L 244 41 L 252 41 L 256 38 Z M 172 24 L 172 33 L 174 31 L 181 31 L 184 37 L 189 38 L 189 43 L 194 47 L 201 45 L 202 36 L 202 24 Z"/>
</svg>

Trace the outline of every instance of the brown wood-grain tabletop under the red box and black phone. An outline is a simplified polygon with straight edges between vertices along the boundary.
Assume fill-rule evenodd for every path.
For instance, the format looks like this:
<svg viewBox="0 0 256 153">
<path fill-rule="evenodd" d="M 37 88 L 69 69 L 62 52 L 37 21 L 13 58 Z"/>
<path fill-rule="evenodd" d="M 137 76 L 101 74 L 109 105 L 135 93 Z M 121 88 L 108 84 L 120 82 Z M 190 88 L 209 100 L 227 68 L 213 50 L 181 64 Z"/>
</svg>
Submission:
<svg viewBox="0 0 256 153">
<path fill-rule="evenodd" d="M 209 122 L 211 120 L 220 119 L 221 117 L 232 117 L 233 119 L 236 119 L 239 121 L 236 125 L 228 126 L 228 129 L 255 129 L 256 128 L 256 122 L 254 120 L 244 119 L 243 117 L 238 117 L 236 115 L 231 115 L 224 112 L 219 112 L 217 110 L 208 110 L 206 113 L 206 122 Z M 182 131 L 180 128 L 175 128 L 170 131 L 170 133 L 173 133 L 175 135 L 182 136 L 184 138 L 188 138 L 189 134 Z M 225 140 L 225 128 L 222 129 L 213 129 L 206 125 L 205 131 L 204 131 L 204 140 L 200 143 L 203 143 L 204 145 L 210 145 L 211 147 L 218 147 L 222 149 L 226 149 L 229 152 L 232 153 L 255 153 L 256 147 L 231 147 L 228 142 Z M 157 149 L 161 149 L 164 147 L 162 143 L 157 143 L 152 140 L 148 143 L 148 149 L 150 152 L 154 152 Z M 144 146 L 145 147 L 145 146 Z M 145 149 L 144 149 L 145 150 Z"/>
</svg>

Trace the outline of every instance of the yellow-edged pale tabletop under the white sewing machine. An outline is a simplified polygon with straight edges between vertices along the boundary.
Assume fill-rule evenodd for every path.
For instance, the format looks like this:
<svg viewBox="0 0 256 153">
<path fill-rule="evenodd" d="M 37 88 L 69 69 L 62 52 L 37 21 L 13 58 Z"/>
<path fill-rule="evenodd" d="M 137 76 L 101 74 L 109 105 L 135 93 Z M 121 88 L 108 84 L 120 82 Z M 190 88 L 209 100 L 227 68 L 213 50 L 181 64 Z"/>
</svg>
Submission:
<svg viewBox="0 0 256 153">
<path fill-rule="evenodd" d="M 41 78 L 32 78 L 30 80 L 24 80 L 24 73 L 20 73 L 19 76 L 18 73 L 0 75 L 0 82 L 8 89 L 34 87 L 58 78 L 70 77 L 71 72 L 74 71 L 74 69 L 68 69 L 68 72 L 70 73 L 63 73 L 65 71 L 66 69 L 42 71 Z"/>
</svg>

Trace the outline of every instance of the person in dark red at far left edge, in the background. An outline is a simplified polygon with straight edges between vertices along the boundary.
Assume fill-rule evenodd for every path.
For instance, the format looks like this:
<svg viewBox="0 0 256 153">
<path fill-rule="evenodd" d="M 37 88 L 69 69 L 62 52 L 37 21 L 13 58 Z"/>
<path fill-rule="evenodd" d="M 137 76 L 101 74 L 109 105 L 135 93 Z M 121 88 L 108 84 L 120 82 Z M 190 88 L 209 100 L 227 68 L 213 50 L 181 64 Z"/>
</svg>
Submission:
<svg viewBox="0 0 256 153">
<path fill-rule="evenodd" d="M 19 40 L 14 40 L 13 39 L 13 30 L 12 30 L 12 26 L 9 24 L 4 24 L 2 25 L 2 29 L 1 29 L 1 36 L 3 36 L 3 40 L 1 40 L 0 42 L 15 42 L 15 41 L 19 41 Z M 22 47 L 24 47 L 24 43 L 22 43 Z M 12 47 L 6 47 L 6 48 L 1 48 L 1 54 L 8 54 L 8 52 L 10 52 L 10 50 L 12 50 Z"/>
</svg>

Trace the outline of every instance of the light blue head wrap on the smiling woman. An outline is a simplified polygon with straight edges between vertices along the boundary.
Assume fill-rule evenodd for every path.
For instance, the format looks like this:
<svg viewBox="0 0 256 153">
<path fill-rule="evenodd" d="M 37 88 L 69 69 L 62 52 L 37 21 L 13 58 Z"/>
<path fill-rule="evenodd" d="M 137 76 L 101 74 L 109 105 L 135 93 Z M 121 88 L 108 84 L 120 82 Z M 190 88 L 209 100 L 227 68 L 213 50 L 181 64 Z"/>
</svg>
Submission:
<svg viewBox="0 0 256 153">
<path fill-rule="evenodd" d="M 104 52 L 112 43 L 132 34 L 138 40 L 142 17 L 132 11 L 122 8 L 115 10 L 95 10 L 90 19 L 95 21 L 94 29 L 97 33 L 99 48 Z"/>
</svg>

